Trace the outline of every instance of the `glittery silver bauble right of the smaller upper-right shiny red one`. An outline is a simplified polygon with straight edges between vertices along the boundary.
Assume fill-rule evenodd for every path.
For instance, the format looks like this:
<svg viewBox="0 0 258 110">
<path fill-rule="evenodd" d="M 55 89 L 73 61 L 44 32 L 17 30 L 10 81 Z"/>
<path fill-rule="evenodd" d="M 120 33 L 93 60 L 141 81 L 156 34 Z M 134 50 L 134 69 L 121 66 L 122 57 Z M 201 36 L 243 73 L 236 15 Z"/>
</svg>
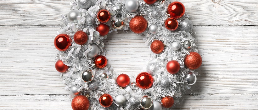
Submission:
<svg viewBox="0 0 258 110">
<path fill-rule="evenodd" d="M 179 25 L 179 30 L 185 32 L 192 32 L 193 30 L 193 23 L 189 19 L 184 19 Z"/>
</svg>

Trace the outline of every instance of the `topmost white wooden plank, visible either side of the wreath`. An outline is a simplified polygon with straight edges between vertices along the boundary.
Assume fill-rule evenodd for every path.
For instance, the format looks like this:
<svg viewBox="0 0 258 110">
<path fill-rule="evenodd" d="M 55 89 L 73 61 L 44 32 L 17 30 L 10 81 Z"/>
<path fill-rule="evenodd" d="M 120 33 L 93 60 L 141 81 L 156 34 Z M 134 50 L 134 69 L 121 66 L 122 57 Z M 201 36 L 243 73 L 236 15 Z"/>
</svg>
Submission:
<svg viewBox="0 0 258 110">
<path fill-rule="evenodd" d="M 258 25 L 256 0 L 179 0 L 195 26 Z M 0 0 L 0 25 L 56 26 L 70 0 Z"/>
</svg>

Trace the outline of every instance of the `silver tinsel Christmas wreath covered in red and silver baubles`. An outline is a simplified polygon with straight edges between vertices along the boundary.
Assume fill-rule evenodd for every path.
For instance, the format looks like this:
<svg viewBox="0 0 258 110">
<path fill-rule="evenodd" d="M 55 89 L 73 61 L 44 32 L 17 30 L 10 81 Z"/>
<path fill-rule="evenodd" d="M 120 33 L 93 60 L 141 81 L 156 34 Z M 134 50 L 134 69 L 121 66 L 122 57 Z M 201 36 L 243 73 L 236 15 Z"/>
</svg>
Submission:
<svg viewBox="0 0 258 110">
<path fill-rule="evenodd" d="M 73 110 L 169 109 L 196 82 L 202 64 L 193 24 L 181 2 L 78 0 L 62 16 L 55 68 L 70 91 Z M 110 32 L 144 35 L 151 58 L 137 76 L 117 73 L 105 57 Z"/>
</svg>

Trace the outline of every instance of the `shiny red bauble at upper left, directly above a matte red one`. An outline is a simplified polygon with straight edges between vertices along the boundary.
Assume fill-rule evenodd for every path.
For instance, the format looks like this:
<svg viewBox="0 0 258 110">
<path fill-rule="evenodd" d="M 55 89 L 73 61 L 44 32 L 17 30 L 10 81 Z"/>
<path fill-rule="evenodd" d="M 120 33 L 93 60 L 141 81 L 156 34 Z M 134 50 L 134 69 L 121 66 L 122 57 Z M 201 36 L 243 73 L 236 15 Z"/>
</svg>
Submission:
<svg viewBox="0 0 258 110">
<path fill-rule="evenodd" d="M 106 9 L 102 9 L 102 10 L 98 11 L 98 14 L 97 14 L 98 21 L 103 22 L 103 23 L 108 22 L 110 19 L 110 16 L 111 15 L 110 15 L 109 11 Z"/>
</svg>

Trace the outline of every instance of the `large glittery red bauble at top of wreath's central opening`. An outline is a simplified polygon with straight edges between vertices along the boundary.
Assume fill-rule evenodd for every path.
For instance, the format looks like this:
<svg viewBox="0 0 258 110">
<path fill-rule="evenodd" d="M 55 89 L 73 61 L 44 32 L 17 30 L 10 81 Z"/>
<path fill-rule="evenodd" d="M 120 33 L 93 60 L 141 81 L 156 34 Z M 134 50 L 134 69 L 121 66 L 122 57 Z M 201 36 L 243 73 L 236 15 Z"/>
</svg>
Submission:
<svg viewBox="0 0 258 110">
<path fill-rule="evenodd" d="M 135 16 L 129 22 L 129 27 L 134 33 L 143 33 L 147 26 L 148 22 L 143 16 Z"/>
</svg>

